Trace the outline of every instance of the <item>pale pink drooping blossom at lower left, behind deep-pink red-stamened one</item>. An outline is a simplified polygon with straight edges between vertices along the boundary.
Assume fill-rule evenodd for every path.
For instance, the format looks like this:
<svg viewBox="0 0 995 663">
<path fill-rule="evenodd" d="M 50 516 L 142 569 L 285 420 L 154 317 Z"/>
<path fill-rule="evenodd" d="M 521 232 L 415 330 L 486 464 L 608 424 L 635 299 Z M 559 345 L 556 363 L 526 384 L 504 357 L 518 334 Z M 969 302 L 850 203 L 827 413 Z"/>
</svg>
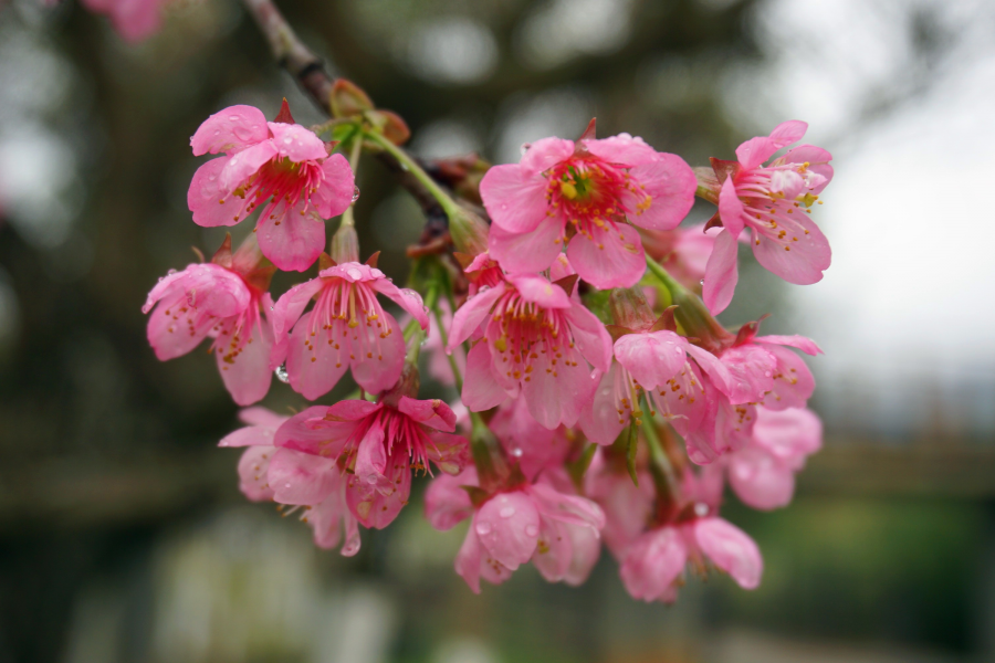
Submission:
<svg viewBox="0 0 995 663">
<path fill-rule="evenodd" d="M 342 554 L 350 557 L 359 551 L 359 527 L 356 518 L 349 513 L 345 503 L 345 480 L 341 473 L 326 473 L 326 495 L 314 497 L 303 495 L 300 490 L 293 491 L 302 482 L 291 485 L 287 476 L 297 475 L 301 469 L 323 471 L 314 467 L 315 456 L 289 449 L 274 446 L 276 430 L 287 421 L 289 417 L 280 417 L 265 408 L 248 408 L 239 413 L 239 418 L 248 423 L 229 433 L 218 446 L 245 446 L 239 461 L 239 488 L 252 502 L 274 501 L 281 504 L 303 505 L 301 520 L 314 532 L 314 543 L 320 548 L 334 548 L 343 539 Z M 316 459 L 318 462 L 324 459 Z M 270 474 L 273 469 L 272 476 Z M 291 472 L 287 472 L 291 469 Z M 275 488 L 274 488 L 275 486 Z M 304 498 L 301 502 L 302 497 Z"/>
</svg>

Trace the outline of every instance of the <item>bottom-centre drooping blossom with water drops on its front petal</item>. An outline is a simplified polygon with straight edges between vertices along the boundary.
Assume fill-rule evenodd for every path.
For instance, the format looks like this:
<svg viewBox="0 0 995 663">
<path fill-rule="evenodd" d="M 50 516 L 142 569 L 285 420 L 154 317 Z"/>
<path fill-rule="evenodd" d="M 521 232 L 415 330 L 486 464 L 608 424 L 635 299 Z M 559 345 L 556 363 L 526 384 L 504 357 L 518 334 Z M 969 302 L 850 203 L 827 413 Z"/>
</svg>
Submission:
<svg viewBox="0 0 995 663">
<path fill-rule="evenodd" d="M 474 593 L 480 579 L 500 585 L 532 561 L 549 582 L 584 582 L 598 558 L 605 515 L 594 502 L 541 481 L 488 495 L 474 470 L 440 476 L 426 492 L 426 516 L 437 529 L 470 517 L 455 571 Z M 475 504 L 461 486 L 475 488 Z"/>
</svg>

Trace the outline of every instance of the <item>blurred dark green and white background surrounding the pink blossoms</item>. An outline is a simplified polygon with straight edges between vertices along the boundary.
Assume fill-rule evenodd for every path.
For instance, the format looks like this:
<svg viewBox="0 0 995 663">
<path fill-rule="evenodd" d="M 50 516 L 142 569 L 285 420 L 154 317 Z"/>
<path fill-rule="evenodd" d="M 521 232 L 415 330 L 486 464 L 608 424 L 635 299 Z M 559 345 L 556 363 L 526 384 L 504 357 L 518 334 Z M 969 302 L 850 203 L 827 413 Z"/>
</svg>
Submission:
<svg viewBox="0 0 995 663">
<path fill-rule="evenodd" d="M 0 3 L 0 662 L 995 661 L 995 3 L 280 4 L 423 158 L 514 161 L 597 116 L 704 165 L 810 123 L 834 264 L 798 287 L 743 260 L 723 319 L 821 344 L 826 449 L 790 507 L 729 497 L 766 560 L 754 592 L 712 577 L 637 603 L 606 555 L 579 589 L 524 567 L 474 597 L 463 529 L 415 505 L 356 558 L 314 548 L 240 496 L 213 361 L 158 362 L 139 307 L 223 238 L 186 207 L 200 122 L 284 96 L 321 115 L 234 0 L 178 0 L 137 46 L 73 0 Z M 375 160 L 358 185 L 363 253 L 404 278 L 420 211 Z M 302 403 L 276 382 L 265 401 Z"/>
</svg>

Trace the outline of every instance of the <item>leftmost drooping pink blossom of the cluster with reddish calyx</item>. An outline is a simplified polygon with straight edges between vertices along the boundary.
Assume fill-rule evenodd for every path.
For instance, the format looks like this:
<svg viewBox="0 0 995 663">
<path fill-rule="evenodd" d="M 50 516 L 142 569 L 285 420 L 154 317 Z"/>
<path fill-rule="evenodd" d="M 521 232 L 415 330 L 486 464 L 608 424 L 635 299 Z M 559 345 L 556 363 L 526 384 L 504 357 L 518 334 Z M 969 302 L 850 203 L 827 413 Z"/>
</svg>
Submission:
<svg viewBox="0 0 995 663">
<path fill-rule="evenodd" d="M 212 261 L 171 272 L 148 293 L 142 307 L 151 311 L 148 341 L 166 361 L 210 337 L 226 388 L 238 404 L 249 406 L 266 394 L 274 368 L 265 313 L 273 308 L 266 292 L 273 270 L 261 264 L 251 238 L 234 255 L 227 239 Z"/>
</svg>

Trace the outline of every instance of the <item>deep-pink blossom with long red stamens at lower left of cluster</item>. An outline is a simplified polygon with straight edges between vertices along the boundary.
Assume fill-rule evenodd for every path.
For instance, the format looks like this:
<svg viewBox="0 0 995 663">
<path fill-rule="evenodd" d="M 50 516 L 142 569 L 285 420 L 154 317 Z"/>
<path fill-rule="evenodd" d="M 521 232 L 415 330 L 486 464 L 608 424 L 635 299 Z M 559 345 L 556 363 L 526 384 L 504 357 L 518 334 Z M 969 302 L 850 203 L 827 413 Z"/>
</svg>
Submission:
<svg viewBox="0 0 995 663">
<path fill-rule="evenodd" d="M 303 452 L 323 467 L 286 472 L 286 490 L 304 493 L 298 499 L 323 496 L 332 490 L 328 475 L 336 475 L 347 482 L 346 504 L 356 518 L 365 527 L 383 528 L 408 502 L 412 467 L 428 471 L 431 461 L 458 474 L 469 462 L 467 440 L 453 430 L 455 414 L 446 403 L 394 394 L 378 403 L 345 400 L 308 408 L 280 428 L 275 444 Z M 274 482 L 277 492 L 281 481 Z"/>
</svg>

